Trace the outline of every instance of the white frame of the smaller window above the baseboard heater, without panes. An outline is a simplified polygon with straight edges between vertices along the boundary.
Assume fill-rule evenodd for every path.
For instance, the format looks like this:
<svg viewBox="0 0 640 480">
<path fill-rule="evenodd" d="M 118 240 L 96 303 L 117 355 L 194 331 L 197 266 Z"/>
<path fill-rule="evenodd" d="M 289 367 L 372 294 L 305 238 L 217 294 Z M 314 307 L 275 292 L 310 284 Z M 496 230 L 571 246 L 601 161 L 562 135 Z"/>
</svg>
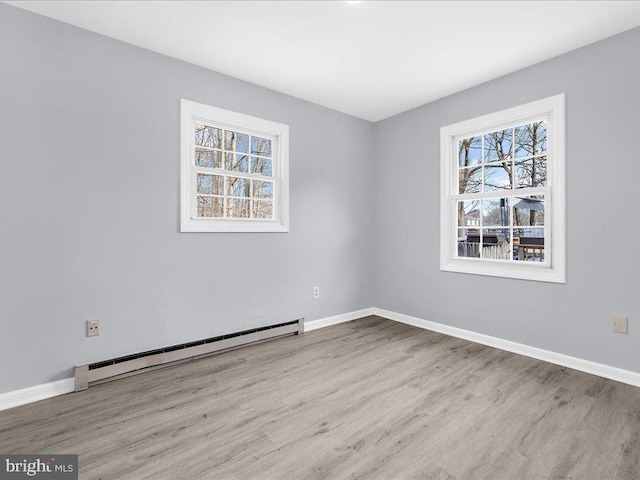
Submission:
<svg viewBox="0 0 640 480">
<path fill-rule="evenodd" d="M 274 182 L 273 219 L 198 217 L 195 164 L 195 125 L 226 128 L 272 140 L 272 177 L 257 174 L 227 175 Z M 223 165 L 224 166 L 224 165 Z M 211 169 L 213 170 L 213 169 Z M 219 169 L 223 170 L 223 169 Z M 201 172 L 202 173 L 202 172 Z M 208 172 L 205 172 L 208 173 Z M 180 231 L 181 232 L 288 232 L 289 231 L 289 126 L 189 100 L 180 100 Z"/>
</svg>

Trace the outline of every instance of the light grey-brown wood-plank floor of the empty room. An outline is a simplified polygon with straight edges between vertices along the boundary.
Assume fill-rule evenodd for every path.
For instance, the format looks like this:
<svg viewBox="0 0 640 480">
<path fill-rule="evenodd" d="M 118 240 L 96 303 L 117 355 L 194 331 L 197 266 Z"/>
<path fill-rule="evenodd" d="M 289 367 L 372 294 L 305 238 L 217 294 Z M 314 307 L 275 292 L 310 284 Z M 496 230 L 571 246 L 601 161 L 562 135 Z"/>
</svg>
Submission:
<svg viewBox="0 0 640 480">
<path fill-rule="evenodd" d="M 640 389 L 368 317 L 0 412 L 86 479 L 637 479 Z"/>
</svg>

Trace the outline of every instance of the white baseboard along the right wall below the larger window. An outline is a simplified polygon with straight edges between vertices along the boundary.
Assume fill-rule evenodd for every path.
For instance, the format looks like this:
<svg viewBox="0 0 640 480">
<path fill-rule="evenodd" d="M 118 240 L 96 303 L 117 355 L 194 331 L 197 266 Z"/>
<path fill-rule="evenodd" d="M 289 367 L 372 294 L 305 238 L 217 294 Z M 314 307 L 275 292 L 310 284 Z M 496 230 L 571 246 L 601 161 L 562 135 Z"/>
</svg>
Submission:
<svg viewBox="0 0 640 480">
<path fill-rule="evenodd" d="M 374 315 L 388 318 L 389 320 L 394 320 L 396 322 L 406 323 L 407 325 L 413 325 L 414 327 L 424 328 L 425 330 L 431 330 L 433 332 L 444 333 L 445 335 L 450 335 L 452 337 L 462 338 L 482 345 L 499 348 L 500 350 L 506 350 L 507 352 L 517 353 L 526 357 L 543 360 L 545 362 L 569 367 L 574 370 L 608 378 L 617 382 L 626 383 L 633 385 L 634 387 L 640 387 L 640 373 L 632 372 L 631 370 L 623 370 L 622 368 L 611 367 L 609 365 L 571 357 L 562 353 L 530 347 L 529 345 L 524 345 L 522 343 L 503 340 L 502 338 L 492 337 L 490 335 L 484 335 L 482 333 L 476 333 L 462 328 L 450 327 L 449 325 L 444 325 L 442 323 L 431 322 L 429 320 L 423 320 L 421 318 L 404 315 L 402 313 L 390 312 L 381 308 L 374 308 L 373 311 Z"/>
</svg>

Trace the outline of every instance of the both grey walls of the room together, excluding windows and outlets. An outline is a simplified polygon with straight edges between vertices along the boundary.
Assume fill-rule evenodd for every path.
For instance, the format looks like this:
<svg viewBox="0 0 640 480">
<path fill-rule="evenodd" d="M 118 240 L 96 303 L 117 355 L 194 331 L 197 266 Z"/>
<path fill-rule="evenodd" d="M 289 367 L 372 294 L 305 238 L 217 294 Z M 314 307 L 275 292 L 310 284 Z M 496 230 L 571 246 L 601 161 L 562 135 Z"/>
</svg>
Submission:
<svg viewBox="0 0 640 480">
<path fill-rule="evenodd" d="M 0 4 L 0 393 L 374 305 L 640 371 L 639 52 L 636 29 L 372 125 Z M 561 92 L 567 284 L 440 272 L 440 127 Z M 290 125 L 290 233 L 178 233 L 180 98 Z"/>
</svg>

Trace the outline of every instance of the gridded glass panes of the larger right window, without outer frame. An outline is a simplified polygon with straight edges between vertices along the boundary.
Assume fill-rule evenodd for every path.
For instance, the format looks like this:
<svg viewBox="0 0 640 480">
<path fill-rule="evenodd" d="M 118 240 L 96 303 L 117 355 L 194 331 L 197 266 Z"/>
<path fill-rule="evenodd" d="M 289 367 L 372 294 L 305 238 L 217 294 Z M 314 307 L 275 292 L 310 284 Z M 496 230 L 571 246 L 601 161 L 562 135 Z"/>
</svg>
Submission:
<svg viewBox="0 0 640 480">
<path fill-rule="evenodd" d="M 466 228 L 458 230 L 456 256 L 548 263 L 546 121 L 460 138 L 457 150 L 458 228 Z"/>
</svg>

